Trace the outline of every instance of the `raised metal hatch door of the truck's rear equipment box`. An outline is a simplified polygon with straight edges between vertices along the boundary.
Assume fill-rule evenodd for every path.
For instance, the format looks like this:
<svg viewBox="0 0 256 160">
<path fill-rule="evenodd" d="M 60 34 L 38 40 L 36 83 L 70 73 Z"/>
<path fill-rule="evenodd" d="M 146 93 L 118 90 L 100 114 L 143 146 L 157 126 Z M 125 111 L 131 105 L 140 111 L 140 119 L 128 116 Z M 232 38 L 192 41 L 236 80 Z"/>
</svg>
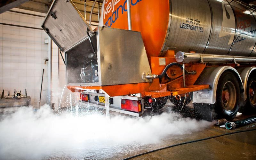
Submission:
<svg viewBox="0 0 256 160">
<path fill-rule="evenodd" d="M 61 51 L 66 51 L 93 33 L 71 0 L 54 0 L 42 28 L 51 37 Z"/>
</svg>

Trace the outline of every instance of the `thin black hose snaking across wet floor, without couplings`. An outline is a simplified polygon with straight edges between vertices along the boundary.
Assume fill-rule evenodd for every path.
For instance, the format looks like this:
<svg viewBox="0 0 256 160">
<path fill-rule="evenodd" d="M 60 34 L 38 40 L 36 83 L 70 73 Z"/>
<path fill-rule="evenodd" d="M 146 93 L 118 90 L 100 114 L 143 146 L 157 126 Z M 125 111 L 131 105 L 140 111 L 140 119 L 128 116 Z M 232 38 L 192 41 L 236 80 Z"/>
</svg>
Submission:
<svg viewBox="0 0 256 160">
<path fill-rule="evenodd" d="M 135 158 L 135 157 L 138 157 L 138 156 L 142 156 L 142 155 L 146 155 L 148 153 L 156 152 L 156 151 L 159 151 L 159 150 L 162 150 L 162 149 L 172 148 L 172 147 L 181 146 L 181 145 L 184 145 L 184 144 L 199 142 L 199 141 L 203 141 L 203 140 L 210 140 L 210 139 L 218 138 L 218 137 L 221 137 L 221 136 L 226 136 L 226 135 L 231 135 L 231 134 L 236 134 L 236 133 L 242 133 L 242 132 L 250 132 L 250 131 L 255 131 L 255 130 L 256 130 L 256 128 L 255 129 L 250 129 L 250 130 L 244 130 L 244 131 L 237 131 L 237 132 L 221 134 L 221 135 L 207 137 L 207 138 L 203 138 L 203 139 L 199 139 L 199 140 L 192 140 L 192 141 L 188 141 L 188 142 L 178 143 L 178 144 L 174 144 L 174 145 L 167 146 L 167 147 L 164 147 L 164 148 L 158 148 L 158 149 L 155 149 L 155 150 L 152 150 L 152 151 L 141 153 L 141 154 L 138 154 L 138 155 L 135 155 L 135 156 L 131 156 L 131 157 L 128 157 L 128 158 L 124 158 L 123 160 L 132 159 L 132 158 Z"/>
</svg>

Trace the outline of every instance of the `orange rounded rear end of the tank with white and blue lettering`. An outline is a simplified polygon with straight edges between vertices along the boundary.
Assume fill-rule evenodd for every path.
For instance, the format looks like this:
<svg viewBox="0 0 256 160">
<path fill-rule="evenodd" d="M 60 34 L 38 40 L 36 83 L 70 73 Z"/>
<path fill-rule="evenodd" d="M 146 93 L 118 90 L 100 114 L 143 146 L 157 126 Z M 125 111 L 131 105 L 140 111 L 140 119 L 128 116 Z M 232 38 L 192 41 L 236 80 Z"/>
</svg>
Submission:
<svg viewBox="0 0 256 160">
<path fill-rule="evenodd" d="M 132 30 L 141 32 L 148 57 L 162 50 L 169 21 L 169 0 L 131 0 Z M 128 29 L 127 2 L 106 0 L 101 11 L 103 25 Z"/>
</svg>

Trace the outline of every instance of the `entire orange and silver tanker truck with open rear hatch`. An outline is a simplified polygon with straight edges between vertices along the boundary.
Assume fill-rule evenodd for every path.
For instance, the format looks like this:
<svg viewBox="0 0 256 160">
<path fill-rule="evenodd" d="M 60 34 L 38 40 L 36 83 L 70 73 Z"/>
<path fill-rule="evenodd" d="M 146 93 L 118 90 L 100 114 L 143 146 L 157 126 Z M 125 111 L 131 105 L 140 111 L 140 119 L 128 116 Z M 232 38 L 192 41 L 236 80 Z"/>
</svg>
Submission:
<svg viewBox="0 0 256 160">
<path fill-rule="evenodd" d="M 104 0 L 93 30 L 72 0 L 55 0 L 42 28 L 83 103 L 142 116 L 192 101 L 209 121 L 256 110 L 256 13 L 241 1 Z"/>
</svg>

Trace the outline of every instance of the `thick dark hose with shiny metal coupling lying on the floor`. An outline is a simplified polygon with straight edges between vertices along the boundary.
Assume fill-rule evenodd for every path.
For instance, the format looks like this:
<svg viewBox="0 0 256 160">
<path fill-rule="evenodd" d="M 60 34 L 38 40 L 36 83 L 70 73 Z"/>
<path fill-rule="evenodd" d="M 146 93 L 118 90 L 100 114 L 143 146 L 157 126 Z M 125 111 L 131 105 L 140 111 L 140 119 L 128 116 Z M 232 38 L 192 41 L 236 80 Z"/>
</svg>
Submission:
<svg viewBox="0 0 256 160">
<path fill-rule="evenodd" d="M 227 122 L 225 124 L 225 127 L 226 127 L 226 129 L 230 130 L 230 129 L 242 127 L 242 126 L 245 126 L 248 124 L 252 124 L 254 122 L 256 122 L 256 116 L 252 116 L 252 117 L 246 118 L 244 120 L 240 120 L 240 121 Z"/>
</svg>

